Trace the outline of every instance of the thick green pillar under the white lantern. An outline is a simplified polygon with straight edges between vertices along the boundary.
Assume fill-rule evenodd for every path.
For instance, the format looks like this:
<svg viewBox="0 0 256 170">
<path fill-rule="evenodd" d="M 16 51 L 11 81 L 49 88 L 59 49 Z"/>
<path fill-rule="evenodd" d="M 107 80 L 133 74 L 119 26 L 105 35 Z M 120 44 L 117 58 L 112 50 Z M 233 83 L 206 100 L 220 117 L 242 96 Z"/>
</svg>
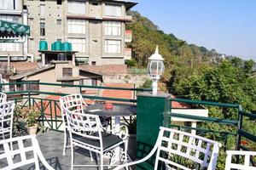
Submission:
<svg viewBox="0 0 256 170">
<path fill-rule="evenodd" d="M 137 159 L 153 149 L 160 126 L 168 126 L 170 117 L 170 94 L 137 95 Z M 167 118 L 166 118 L 167 117 Z M 154 157 L 137 166 L 137 169 L 154 169 Z"/>
</svg>

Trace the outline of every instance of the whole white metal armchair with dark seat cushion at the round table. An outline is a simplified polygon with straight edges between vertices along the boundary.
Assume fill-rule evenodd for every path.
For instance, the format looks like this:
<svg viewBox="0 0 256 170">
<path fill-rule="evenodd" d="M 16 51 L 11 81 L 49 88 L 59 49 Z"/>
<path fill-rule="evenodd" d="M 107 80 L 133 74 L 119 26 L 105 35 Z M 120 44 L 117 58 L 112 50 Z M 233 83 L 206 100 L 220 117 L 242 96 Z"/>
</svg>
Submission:
<svg viewBox="0 0 256 170">
<path fill-rule="evenodd" d="M 125 147 L 125 162 L 127 161 L 127 147 L 128 147 L 128 129 L 122 138 L 121 135 L 117 136 L 112 133 L 103 131 L 102 124 L 99 116 L 90 114 L 79 114 L 74 111 L 67 110 L 67 125 L 71 140 L 71 169 L 73 167 L 113 167 L 110 162 L 109 165 L 103 165 L 103 155 L 108 151 L 112 151 L 124 144 Z M 100 155 L 100 166 L 98 165 L 74 165 L 73 150 L 74 147 L 84 148 Z M 114 153 L 114 152 L 113 152 Z M 117 153 L 119 154 L 119 153 Z"/>
</svg>

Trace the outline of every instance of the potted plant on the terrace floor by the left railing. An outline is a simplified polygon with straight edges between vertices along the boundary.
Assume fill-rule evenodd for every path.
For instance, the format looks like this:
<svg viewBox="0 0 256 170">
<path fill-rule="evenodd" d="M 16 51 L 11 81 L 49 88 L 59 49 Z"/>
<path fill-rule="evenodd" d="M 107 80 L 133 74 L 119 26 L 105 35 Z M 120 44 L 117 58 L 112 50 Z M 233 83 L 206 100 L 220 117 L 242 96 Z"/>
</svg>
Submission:
<svg viewBox="0 0 256 170">
<path fill-rule="evenodd" d="M 26 117 L 26 127 L 29 134 L 36 134 L 38 131 L 38 116 L 40 112 L 36 111 L 34 108 L 29 109 Z"/>
</svg>

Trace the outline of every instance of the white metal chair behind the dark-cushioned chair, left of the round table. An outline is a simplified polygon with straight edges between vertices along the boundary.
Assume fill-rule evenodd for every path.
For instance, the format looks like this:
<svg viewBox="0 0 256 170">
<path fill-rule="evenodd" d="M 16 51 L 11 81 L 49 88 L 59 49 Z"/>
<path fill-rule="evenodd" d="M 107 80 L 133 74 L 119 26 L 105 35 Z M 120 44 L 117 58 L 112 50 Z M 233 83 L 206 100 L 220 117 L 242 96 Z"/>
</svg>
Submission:
<svg viewBox="0 0 256 170">
<path fill-rule="evenodd" d="M 84 103 L 84 99 L 81 94 L 71 94 L 64 97 L 61 97 L 60 99 L 61 104 L 61 116 L 62 116 L 62 122 L 65 123 L 64 128 L 64 144 L 63 144 L 63 156 L 66 155 L 66 149 L 67 149 L 67 112 L 68 111 L 75 111 L 77 113 L 83 113 L 84 109 L 87 106 Z"/>
</svg>

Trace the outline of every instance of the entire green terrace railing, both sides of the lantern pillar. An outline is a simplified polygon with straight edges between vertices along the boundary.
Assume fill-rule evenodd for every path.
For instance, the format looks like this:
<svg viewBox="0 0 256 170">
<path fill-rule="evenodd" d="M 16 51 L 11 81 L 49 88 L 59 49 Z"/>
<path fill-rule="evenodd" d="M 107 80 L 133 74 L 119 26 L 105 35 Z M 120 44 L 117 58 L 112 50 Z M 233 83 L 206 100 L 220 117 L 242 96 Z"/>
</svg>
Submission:
<svg viewBox="0 0 256 170">
<path fill-rule="evenodd" d="M 111 88 L 111 87 L 102 87 L 102 86 L 81 86 L 81 85 L 68 85 L 68 84 L 56 84 L 56 83 L 46 83 L 46 82 L 14 82 L 14 83 L 1 83 L 1 87 L 6 86 L 17 86 L 22 85 L 26 87 L 34 87 L 34 86 L 47 86 L 47 87 L 69 87 L 69 88 L 78 88 L 80 92 L 83 91 L 84 88 L 95 88 L 95 89 L 111 89 L 111 90 L 125 90 L 125 91 L 133 91 L 137 92 L 148 92 L 151 91 L 150 89 L 143 89 L 143 88 Z M 2 88 L 0 88 L 2 89 Z M 3 88 L 4 89 L 4 88 Z M 38 88 L 27 88 L 26 90 L 20 89 L 20 91 L 13 91 L 13 92 L 5 92 L 9 94 L 10 99 L 14 99 L 16 104 L 21 105 L 22 107 L 35 107 L 38 111 L 41 112 L 41 116 L 39 120 L 44 125 L 47 125 L 50 129 L 55 131 L 60 131 L 61 127 L 61 115 L 60 115 L 60 105 L 58 99 L 48 99 L 45 95 L 53 95 L 53 96 L 64 96 L 67 94 L 59 94 L 54 92 L 45 92 L 40 91 Z M 112 100 L 116 102 L 128 102 L 128 103 L 137 103 L 137 99 L 120 99 L 120 98 L 111 98 L 111 97 L 101 97 L 101 96 L 90 96 L 90 95 L 83 95 L 84 99 L 94 99 L 94 100 Z M 230 149 L 228 148 L 227 141 L 229 139 L 233 139 L 236 141 L 236 150 L 252 150 L 252 148 L 247 147 L 246 144 L 243 144 L 241 141 L 246 139 L 247 141 L 252 142 L 253 144 L 256 143 L 256 134 L 252 132 L 248 132 L 248 129 L 244 128 L 244 120 L 250 120 L 252 123 L 255 123 L 256 116 L 252 113 L 247 113 L 242 111 L 241 105 L 238 104 L 223 104 L 223 103 L 216 103 L 216 102 L 208 102 L 208 101 L 195 101 L 189 99 L 170 99 L 172 102 L 179 102 L 185 103 L 189 105 L 196 105 L 196 106 L 204 106 L 204 108 L 211 109 L 215 107 L 220 108 L 228 108 L 236 116 L 230 119 L 224 119 L 224 114 L 221 117 L 212 116 L 214 114 L 210 114 L 209 117 L 203 116 L 191 116 L 191 115 L 184 115 L 178 114 L 173 111 L 172 105 L 170 108 L 170 112 L 168 113 L 168 117 L 177 117 L 189 120 L 200 121 L 200 126 L 198 127 L 188 127 L 183 125 L 168 124 L 168 127 L 177 127 L 183 130 L 195 130 L 196 133 L 206 135 L 206 134 L 214 134 L 216 135 L 217 140 L 220 140 L 224 143 L 224 150 Z M 225 111 L 225 109 L 223 109 Z M 202 126 L 202 125 L 209 125 L 209 126 Z M 256 124 L 256 123 L 255 123 Z M 211 128 L 211 126 L 218 125 L 218 129 Z M 225 128 L 222 128 L 224 126 Z M 227 130 L 228 129 L 228 130 Z M 235 149 L 235 148 L 234 148 Z M 254 148 L 255 149 L 255 148 Z"/>
</svg>

